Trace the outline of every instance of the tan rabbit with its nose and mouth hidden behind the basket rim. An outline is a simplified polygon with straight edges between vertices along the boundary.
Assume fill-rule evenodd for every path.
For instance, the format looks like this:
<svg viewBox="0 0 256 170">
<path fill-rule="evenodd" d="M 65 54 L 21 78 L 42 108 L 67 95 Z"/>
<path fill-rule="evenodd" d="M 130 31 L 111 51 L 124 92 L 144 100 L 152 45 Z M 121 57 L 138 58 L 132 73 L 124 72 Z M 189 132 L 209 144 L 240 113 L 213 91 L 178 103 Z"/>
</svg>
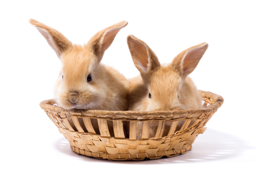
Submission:
<svg viewBox="0 0 256 170">
<path fill-rule="evenodd" d="M 129 35 L 127 44 L 134 65 L 141 73 L 129 79 L 129 111 L 172 111 L 203 107 L 200 92 L 188 75 L 207 50 L 206 42 L 184 50 L 170 64 L 162 65 L 142 40 Z M 177 128 L 181 128 L 183 123 L 179 121 Z M 170 125 L 170 122 L 166 122 L 163 137 L 167 136 Z M 153 121 L 148 138 L 154 137 L 157 126 L 158 122 Z M 142 128 L 143 122 L 138 122 L 137 139 L 142 137 Z"/>
</svg>

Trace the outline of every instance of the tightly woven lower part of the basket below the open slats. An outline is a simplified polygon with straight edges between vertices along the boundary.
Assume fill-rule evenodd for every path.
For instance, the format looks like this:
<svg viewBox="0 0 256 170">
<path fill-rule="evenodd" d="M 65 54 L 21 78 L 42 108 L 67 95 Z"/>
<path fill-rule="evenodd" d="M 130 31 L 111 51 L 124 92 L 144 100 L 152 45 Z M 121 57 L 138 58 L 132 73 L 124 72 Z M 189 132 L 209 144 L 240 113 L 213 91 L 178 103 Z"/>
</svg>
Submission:
<svg viewBox="0 0 256 170">
<path fill-rule="evenodd" d="M 76 154 L 108 160 L 160 159 L 186 154 L 192 150 L 192 143 L 206 128 L 197 128 L 177 133 L 170 138 L 130 141 L 114 137 L 101 137 L 99 134 L 77 133 L 58 128 L 68 139 Z M 123 144 L 126 143 L 126 144 Z"/>
</svg>

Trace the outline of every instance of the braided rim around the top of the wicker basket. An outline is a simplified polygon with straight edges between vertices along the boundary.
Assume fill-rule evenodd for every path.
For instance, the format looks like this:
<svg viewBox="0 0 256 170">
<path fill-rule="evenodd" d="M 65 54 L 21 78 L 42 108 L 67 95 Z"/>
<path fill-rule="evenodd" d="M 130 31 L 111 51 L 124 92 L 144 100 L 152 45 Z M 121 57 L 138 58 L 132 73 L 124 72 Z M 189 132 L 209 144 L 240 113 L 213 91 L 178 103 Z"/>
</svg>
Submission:
<svg viewBox="0 0 256 170">
<path fill-rule="evenodd" d="M 58 107 L 54 99 L 44 100 L 40 102 L 40 107 L 44 111 L 53 113 L 66 113 L 77 117 L 97 117 L 108 119 L 127 119 L 127 120 L 147 120 L 147 119 L 164 119 L 164 118 L 180 118 L 188 115 L 198 116 L 202 113 L 214 113 L 224 103 L 222 96 L 209 91 L 200 91 L 203 100 L 209 105 L 199 109 L 184 109 L 174 111 L 103 111 L 103 110 L 86 110 L 86 109 L 63 109 Z"/>
</svg>

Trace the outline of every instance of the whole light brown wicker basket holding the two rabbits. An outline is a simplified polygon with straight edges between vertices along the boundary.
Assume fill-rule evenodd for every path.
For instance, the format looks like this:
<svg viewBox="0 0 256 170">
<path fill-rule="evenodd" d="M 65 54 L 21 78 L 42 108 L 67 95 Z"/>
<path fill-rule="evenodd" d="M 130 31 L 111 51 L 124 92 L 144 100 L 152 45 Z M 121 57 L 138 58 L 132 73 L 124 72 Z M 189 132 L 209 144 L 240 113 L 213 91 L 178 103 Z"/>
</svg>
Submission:
<svg viewBox="0 0 256 170">
<path fill-rule="evenodd" d="M 189 110 L 65 110 L 57 107 L 54 100 L 42 101 L 40 107 L 68 139 L 76 154 L 109 160 L 159 159 L 163 156 L 185 154 L 191 150 L 196 137 L 204 133 L 204 126 L 224 102 L 221 96 L 212 92 L 200 93 L 204 100 L 203 107 Z M 136 138 L 137 122 L 143 122 L 142 137 L 139 139 Z M 158 126 L 154 131 L 155 136 L 148 138 L 152 122 L 158 122 Z M 180 122 L 183 125 L 178 128 Z M 168 131 L 168 134 L 164 136 L 163 131 Z"/>
</svg>

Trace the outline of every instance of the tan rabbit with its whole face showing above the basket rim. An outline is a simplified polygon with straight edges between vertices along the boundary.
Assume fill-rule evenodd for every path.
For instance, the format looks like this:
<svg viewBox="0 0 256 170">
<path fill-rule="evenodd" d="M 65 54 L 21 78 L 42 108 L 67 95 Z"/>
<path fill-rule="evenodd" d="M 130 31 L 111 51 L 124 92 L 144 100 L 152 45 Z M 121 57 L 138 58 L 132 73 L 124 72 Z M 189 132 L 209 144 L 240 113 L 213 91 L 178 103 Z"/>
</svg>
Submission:
<svg viewBox="0 0 256 170">
<path fill-rule="evenodd" d="M 54 92 L 59 107 L 127 111 L 128 79 L 113 67 L 100 62 L 105 50 L 128 22 L 122 21 L 102 29 L 85 45 L 73 45 L 60 32 L 34 19 L 30 19 L 30 23 L 44 36 L 60 59 L 61 71 Z M 97 126 L 96 120 L 92 120 L 92 123 L 94 127 Z"/>
</svg>

